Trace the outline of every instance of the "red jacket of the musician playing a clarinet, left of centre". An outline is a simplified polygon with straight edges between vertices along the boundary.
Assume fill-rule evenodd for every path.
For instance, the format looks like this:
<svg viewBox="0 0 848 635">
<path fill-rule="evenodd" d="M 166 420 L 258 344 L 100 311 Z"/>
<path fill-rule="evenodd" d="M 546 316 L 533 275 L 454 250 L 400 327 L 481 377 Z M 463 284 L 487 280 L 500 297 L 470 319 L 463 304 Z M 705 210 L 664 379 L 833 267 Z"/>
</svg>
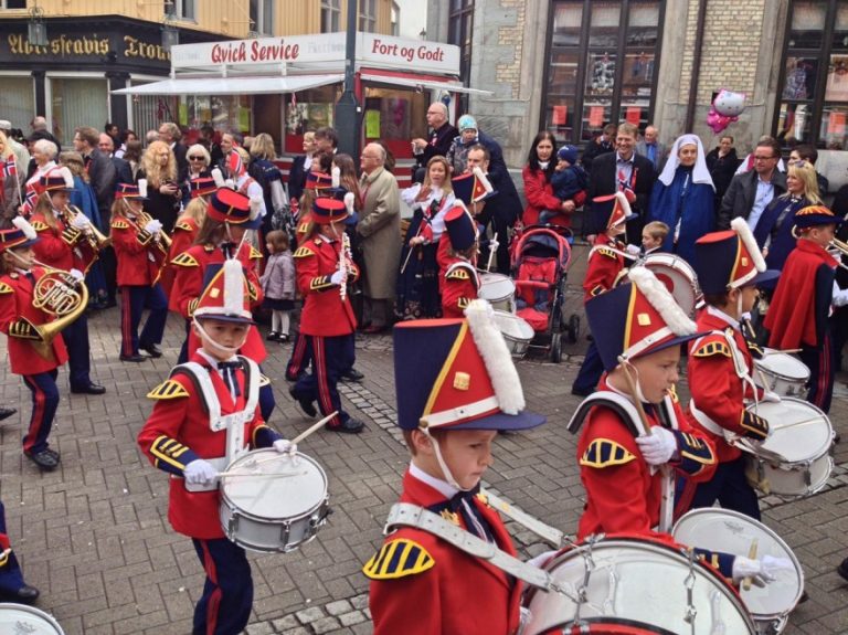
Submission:
<svg viewBox="0 0 848 635">
<path fill-rule="evenodd" d="M 314 235 L 304 241 L 294 254 L 297 288 L 304 296 L 300 332 L 321 337 L 350 335 L 357 329 L 357 318 L 350 297 L 341 299 L 339 286 L 330 277 L 339 268 L 341 241 L 328 241 Z M 359 277 L 359 268 L 351 262 L 348 282 Z"/>
</svg>

